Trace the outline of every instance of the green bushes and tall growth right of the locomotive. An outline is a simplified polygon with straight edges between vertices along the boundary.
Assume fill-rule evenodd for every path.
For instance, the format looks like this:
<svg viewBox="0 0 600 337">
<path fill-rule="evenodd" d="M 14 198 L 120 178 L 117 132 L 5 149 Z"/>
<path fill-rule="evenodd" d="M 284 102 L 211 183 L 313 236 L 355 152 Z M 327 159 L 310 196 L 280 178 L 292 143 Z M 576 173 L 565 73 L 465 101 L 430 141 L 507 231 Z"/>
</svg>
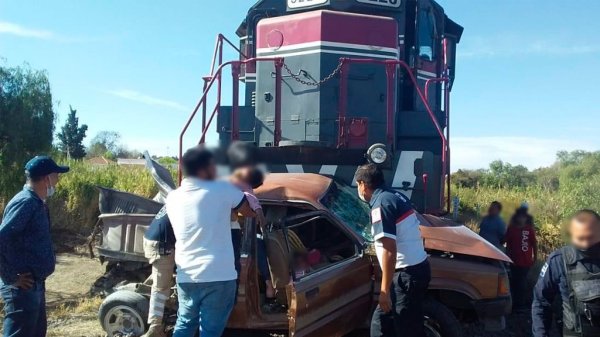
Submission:
<svg viewBox="0 0 600 337">
<path fill-rule="evenodd" d="M 516 166 L 496 164 L 495 169 L 478 171 L 479 181 L 473 173 L 458 175 L 453 193 L 460 198 L 462 220 L 474 226 L 494 200 L 504 204 L 503 217 L 509 219 L 521 202 L 527 201 L 535 217 L 541 257 L 564 244 L 563 226 L 573 213 L 600 207 L 600 152 L 561 152 L 551 167 L 533 172 L 519 168 L 518 183 L 510 183 L 514 180 L 511 174 L 494 174 L 507 167 L 514 171 Z M 470 180 L 465 184 L 467 176 Z"/>
</svg>

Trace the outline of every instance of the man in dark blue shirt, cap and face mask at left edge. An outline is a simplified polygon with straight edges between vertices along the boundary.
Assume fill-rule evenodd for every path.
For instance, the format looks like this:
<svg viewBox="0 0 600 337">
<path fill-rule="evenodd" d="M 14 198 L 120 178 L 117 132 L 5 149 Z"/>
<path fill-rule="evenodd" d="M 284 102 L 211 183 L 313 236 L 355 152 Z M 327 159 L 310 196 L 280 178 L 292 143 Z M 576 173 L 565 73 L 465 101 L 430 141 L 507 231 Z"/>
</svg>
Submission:
<svg viewBox="0 0 600 337">
<path fill-rule="evenodd" d="M 46 336 L 45 280 L 56 258 L 46 199 L 69 168 L 37 156 L 25 165 L 27 184 L 6 205 L 0 224 L 0 295 L 4 337 Z"/>
</svg>

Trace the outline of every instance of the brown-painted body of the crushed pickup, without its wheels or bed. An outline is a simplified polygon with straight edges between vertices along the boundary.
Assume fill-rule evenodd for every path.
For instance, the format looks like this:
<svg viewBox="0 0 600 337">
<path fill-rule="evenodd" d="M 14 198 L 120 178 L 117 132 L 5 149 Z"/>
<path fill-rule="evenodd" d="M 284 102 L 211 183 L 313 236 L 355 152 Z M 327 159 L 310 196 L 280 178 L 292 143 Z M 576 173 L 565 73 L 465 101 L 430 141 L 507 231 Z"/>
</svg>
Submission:
<svg viewBox="0 0 600 337">
<path fill-rule="evenodd" d="M 332 184 L 335 184 L 332 179 L 316 174 L 270 174 L 256 194 L 268 219 L 272 207 L 282 206 L 304 210 L 309 217 L 314 214 L 327 218 L 354 242 L 356 254 L 304 278 L 290 278 L 285 286 L 287 315 L 270 315 L 260 310 L 255 255 L 249 252 L 242 258 L 240 294 L 230 328 L 289 329 L 293 336 L 343 336 L 364 327 L 370 320 L 379 290 L 380 269 L 369 252 L 368 240 L 350 229 L 322 202 Z M 285 218 L 269 220 L 280 221 L 282 227 L 288 225 Z M 421 216 L 421 221 L 432 266 L 431 296 L 441 301 L 460 298 L 462 306 L 497 302 L 493 305 L 497 308 L 491 310 L 496 312 L 491 314 L 508 313 L 510 295 L 502 264 L 479 260 L 510 262 L 510 259 L 464 226 L 428 215 Z M 254 237 L 252 234 L 250 230 L 246 237 Z M 309 247 L 310 242 L 305 245 Z M 460 259 L 453 254 L 472 258 Z M 271 268 L 276 266 L 271 263 Z"/>
</svg>

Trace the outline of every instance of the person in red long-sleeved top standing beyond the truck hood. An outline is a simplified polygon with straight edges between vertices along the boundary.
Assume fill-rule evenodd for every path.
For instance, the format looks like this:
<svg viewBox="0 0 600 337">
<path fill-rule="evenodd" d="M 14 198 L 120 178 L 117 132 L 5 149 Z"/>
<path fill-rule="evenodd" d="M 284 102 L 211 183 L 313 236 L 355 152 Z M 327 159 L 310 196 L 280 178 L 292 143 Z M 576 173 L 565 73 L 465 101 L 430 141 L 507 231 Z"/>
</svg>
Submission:
<svg viewBox="0 0 600 337">
<path fill-rule="evenodd" d="M 537 239 L 533 217 L 519 208 L 506 231 L 506 253 L 513 260 L 510 268 L 510 288 L 513 308 L 526 309 L 527 275 L 537 260 Z"/>
</svg>

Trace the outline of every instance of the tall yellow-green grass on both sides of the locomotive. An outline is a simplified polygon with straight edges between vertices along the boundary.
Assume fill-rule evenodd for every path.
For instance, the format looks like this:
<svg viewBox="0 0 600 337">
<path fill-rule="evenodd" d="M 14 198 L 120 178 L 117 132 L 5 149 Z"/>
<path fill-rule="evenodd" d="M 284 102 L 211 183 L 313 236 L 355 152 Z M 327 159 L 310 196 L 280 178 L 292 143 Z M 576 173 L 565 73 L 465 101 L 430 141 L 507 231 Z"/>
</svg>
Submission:
<svg viewBox="0 0 600 337">
<path fill-rule="evenodd" d="M 157 193 L 154 180 L 144 167 L 123 167 L 116 164 L 93 166 L 84 161 L 65 162 L 71 171 L 62 175 L 55 196 L 48 200 L 55 229 L 87 234 L 97 221 L 98 191 L 96 186 L 113 188 L 153 197 Z M 581 208 L 600 208 L 600 174 L 563 175 L 554 188 L 544 184 L 526 187 L 482 186 L 453 188 L 460 198 L 461 220 L 476 227 L 490 202 L 504 204 L 504 218 L 527 201 L 535 217 L 542 257 L 564 243 L 562 225 Z M 24 183 L 24 177 L 22 183 Z M 7 201 L 10 196 L 5 197 Z M 4 205 L 0 200 L 0 212 Z"/>
</svg>

